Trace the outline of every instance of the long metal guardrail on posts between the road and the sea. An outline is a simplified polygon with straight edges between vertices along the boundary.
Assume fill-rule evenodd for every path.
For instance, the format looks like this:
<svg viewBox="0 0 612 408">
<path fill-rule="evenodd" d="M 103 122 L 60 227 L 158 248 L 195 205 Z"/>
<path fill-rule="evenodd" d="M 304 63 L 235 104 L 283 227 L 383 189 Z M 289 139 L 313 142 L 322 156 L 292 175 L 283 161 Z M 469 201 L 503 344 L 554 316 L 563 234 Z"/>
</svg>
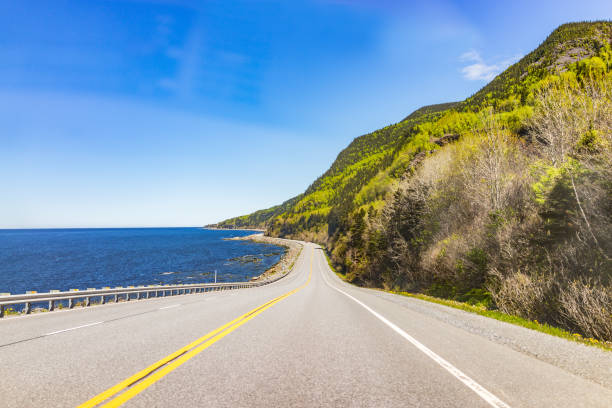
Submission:
<svg viewBox="0 0 612 408">
<path fill-rule="evenodd" d="M 60 301 L 68 301 L 68 308 L 72 309 L 76 305 L 75 300 L 81 299 L 84 306 L 90 306 L 92 304 L 92 298 L 98 298 L 100 304 L 108 303 L 109 299 L 113 302 L 119 302 L 120 300 L 140 300 L 148 299 L 151 297 L 165 297 L 165 296 L 176 296 L 186 295 L 195 293 L 205 293 L 220 290 L 232 290 L 242 288 L 254 288 L 258 286 L 268 285 L 272 282 L 276 282 L 282 277 L 286 276 L 288 272 L 280 274 L 270 280 L 264 280 L 259 282 L 224 282 L 224 283 L 195 283 L 187 285 L 149 285 L 149 286 L 128 286 L 128 287 L 116 287 L 111 289 L 110 287 L 102 289 L 88 288 L 87 290 L 71 289 L 69 291 L 60 292 L 50 291 L 46 293 L 37 293 L 34 291 L 27 292 L 20 295 L 11 295 L 9 293 L 0 293 L 0 318 L 4 317 L 6 307 L 11 305 L 25 305 L 22 313 L 30 314 L 32 312 L 33 303 L 49 302 L 49 311 L 56 309 Z M 135 296 L 135 297 L 133 297 Z M 123 299 L 121 299 L 123 297 Z"/>
</svg>

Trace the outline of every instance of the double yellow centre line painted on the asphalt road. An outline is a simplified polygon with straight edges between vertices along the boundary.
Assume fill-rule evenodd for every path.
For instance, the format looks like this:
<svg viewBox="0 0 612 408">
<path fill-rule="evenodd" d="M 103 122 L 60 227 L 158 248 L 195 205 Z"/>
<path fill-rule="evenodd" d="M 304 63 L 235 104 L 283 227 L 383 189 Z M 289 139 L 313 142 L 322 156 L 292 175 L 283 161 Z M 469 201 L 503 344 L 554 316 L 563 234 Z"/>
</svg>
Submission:
<svg viewBox="0 0 612 408">
<path fill-rule="evenodd" d="M 79 405 L 78 408 L 95 407 L 111 397 L 114 398 L 102 405 L 103 407 L 118 407 L 124 404 L 125 402 L 138 395 L 140 392 L 144 391 L 145 389 L 159 381 L 161 378 L 165 377 L 167 374 L 169 374 L 179 366 L 183 365 L 188 360 L 195 357 L 197 354 L 201 353 L 217 341 L 221 340 L 223 337 L 227 336 L 228 334 L 230 334 L 238 327 L 242 326 L 243 324 L 257 316 L 258 314 L 262 313 L 264 310 L 272 307 L 274 304 L 305 288 L 310 283 L 310 279 L 312 277 L 313 254 L 314 251 L 311 253 L 310 256 L 310 272 L 308 274 L 308 279 L 303 285 L 297 287 L 296 289 L 290 292 L 285 293 L 284 295 L 278 296 L 264 303 L 261 306 L 256 307 L 255 309 L 243 314 L 240 317 L 237 317 L 236 319 L 224 324 L 223 326 L 216 328 L 205 336 L 200 337 L 199 339 L 189 343 L 185 347 L 180 348 L 179 350 L 168 355 L 167 357 L 164 357 L 158 362 L 150 365 L 144 370 L 141 370 L 133 376 L 126 378 L 119 384 L 96 395 L 90 400 Z M 117 394 L 119 395 L 116 396 Z"/>
</svg>

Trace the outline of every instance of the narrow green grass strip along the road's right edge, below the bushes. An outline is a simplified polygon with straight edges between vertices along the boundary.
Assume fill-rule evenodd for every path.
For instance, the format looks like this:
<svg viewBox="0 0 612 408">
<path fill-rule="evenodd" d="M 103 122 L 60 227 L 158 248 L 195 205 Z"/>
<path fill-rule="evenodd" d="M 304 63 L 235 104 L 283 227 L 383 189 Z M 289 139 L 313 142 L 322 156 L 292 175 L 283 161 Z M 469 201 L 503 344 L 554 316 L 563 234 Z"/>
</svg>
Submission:
<svg viewBox="0 0 612 408">
<path fill-rule="evenodd" d="M 343 281 L 348 282 L 346 280 L 346 276 L 344 274 L 342 274 L 340 272 L 336 272 L 336 270 L 334 269 L 334 266 L 331 263 L 331 260 L 329 259 L 329 255 L 327 254 L 327 251 L 324 250 L 323 253 L 325 253 L 325 258 L 327 259 L 327 264 L 329 265 L 329 268 L 332 270 L 332 272 L 334 272 Z M 540 323 L 537 320 L 528 320 L 528 319 L 524 319 L 522 317 L 509 315 L 509 314 L 500 312 L 499 310 L 487 309 L 486 307 L 484 307 L 482 305 L 480 305 L 480 306 L 479 305 L 471 305 L 471 304 L 466 303 L 466 302 L 459 302 L 459 301 L 456 301 L 456 300 L 438 298 L 438 297 L 434 297 L 434 296 L 424 295 L 422 293 L 412 293 L 412 292 L 403 292 L 403 291 L 395 291 L 395 290 L 385 290 L 385 289 L 381 289 L 381 288 L 370 288 L 370 289 L 379 290 L 381 292 L 392 293 L 392 294 L 395 294 L 395 295 L 401 295 L 401 296 L 421 299 L 421 300 L 425 300 L 427 302 L 437 303 L 437 304 L 443 305 L 443 306 L 453 307 L 455 309 L 460 309 L 460 310 L 463 310 L 465 312 L 475 313 L 475 314 L 478 314 L 478 315 L 481 315 L 481 316 L 489 317 L 491 319 L 495 319 L 495 320 L 499 320 L 499 321 L 502 321 L 502 322 L 514 324 L 514 325 L 517 325 L 517 326 L 522 326 L 522 327 L 525 327 L 527 329 L 539 331 L 541 333 L 546 333 L 546 334 L 549 334 L 551 336 L 561 337 L 563 339 L 570 340 L 570 341 L 573 341 L 573 342 L 576 342 L 576 343 L 586 344 L 587 346 L 598 347 L 598 348 L 600 348 L 602 350 L 606 350 L 606 351 L 612 351 L 612 343 L 611 342 L 604 342 L 604 341 L 600 341 L 600 340 L 597 340 L 597 339 L 594 339 L 594 338 L 590 338 L 590 337 L 589 338 L 585 338 L 585 337 L 582 337 L 579 333 L 571 333 L 571 332 L 569 332 L 567 330 L 564 330 L 564 329 L 561 329 L 559 327 L 554 327 L 554 326 L 551 326 L 551 325 L 546 324 L 546 323 Z"/>
</svg>

